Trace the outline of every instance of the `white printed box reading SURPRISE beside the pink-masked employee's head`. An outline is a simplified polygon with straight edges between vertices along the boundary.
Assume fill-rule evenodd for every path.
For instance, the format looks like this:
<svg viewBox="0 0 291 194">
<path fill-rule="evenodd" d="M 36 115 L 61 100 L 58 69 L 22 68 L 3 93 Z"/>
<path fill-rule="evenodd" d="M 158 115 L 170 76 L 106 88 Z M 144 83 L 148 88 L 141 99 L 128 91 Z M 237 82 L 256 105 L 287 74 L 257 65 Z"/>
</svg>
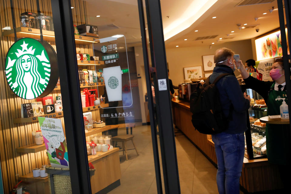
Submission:
<svg viewBox="0 0 291 194">
<path fill-rule="evenodd" d="M 277 59 L 281 59 L 282 57 L 275 57 L 271 59 L 265 59 L 261 61 L 256 61 L 256 75 L 257 79 L 261 81 L 273 81 L 270 77 L 270 71 L 273 63 Z"/>
</svg>

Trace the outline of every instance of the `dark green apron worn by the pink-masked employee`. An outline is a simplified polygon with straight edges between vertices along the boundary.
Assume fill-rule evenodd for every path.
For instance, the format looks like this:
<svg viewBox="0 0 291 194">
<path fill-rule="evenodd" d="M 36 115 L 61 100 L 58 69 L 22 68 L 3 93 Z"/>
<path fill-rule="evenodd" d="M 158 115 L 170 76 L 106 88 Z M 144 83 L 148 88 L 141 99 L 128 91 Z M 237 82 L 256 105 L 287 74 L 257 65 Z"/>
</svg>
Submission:
<svg viewBox="0 0 291 194">
<path fill-rule="evenodd" d="M 268 115 L 280 115 L 280 105 L 282 100 L 276 98 L 286 98 L 285 91 L 274 90 L 275 83 L 270 88 L 268 100 Z M 287 98 L 286 98 L 287 101 Z M 275 164 L 287 164 L 287 154 L 289 151 L 290 133 L 289 125 L 266 124 L 266 147 L 268 161 Z"/>
</svg>

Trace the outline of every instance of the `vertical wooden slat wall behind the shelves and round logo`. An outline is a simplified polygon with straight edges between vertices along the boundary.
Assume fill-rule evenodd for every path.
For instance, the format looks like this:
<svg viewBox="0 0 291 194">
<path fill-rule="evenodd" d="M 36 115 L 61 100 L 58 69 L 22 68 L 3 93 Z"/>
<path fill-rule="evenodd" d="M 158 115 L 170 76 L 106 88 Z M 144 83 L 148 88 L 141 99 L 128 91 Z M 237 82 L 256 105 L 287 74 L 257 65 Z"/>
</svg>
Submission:
<svg viewBox="0 0 291 194">
<path fill-rule="evenodd" d="M 20 27 L 19 16 L 23 12 L 37 13 L 36 0 L 13 0 L 15 25 Z M 52 16 L 52 6 L 50 0 L 39 0 L 40 11 L 44 15 Z M 80 25 L 86 23 L 86 2 L 82 0 L 72 0 L 73 23 Z M 57 18 L 54 18 L 57 19 Z M 2 0 L 0 3 L 0 27 L 13 27 L 10 0 Z M 2 30 L 3 32 L 3 30 Z M 24 100 L 16 95 L 9 94 L 8 84 L 5 78 L 5 56 L 14 43 L 14 38 L 5 37 L 0 33 L 0 158 L 2 168 L 2 179 L 4 192 L 8 193 L 13 186 L 18 183 L 18 177 L 32 172 L 33 168 L 40 167 L 48 163 L 46 151 L 38 153 L 17 153 L 16 148 L 34 143 L 31 135 L 33 130 L 39 129 L 38 122 L 13 124 L 13 118 L 20 118 L 20 105 L 22 103 L 33 102 L 34 100 Z M 49 42 L 56 50 L 55 42 Z M 76 45 L 77 51 L 93 55 L 92 45 Z M 76 51 L 76 52 L 77 52 Z M 72 56 L 73 57 L 73 56 Z M 75 56 L 74 56 L 75 57 Z M 92 67 L 90 67 L 92 69 Z M 85 69 L 85 68 L 84 68 Z M 60 95 L 60 90 L 55 90 L 50 94 Z M 93 113 L 95 114 L 95 113 Z M 94 118 L 94 117 L 93 117 Z M 61 117 L 62 125 L 64 120 Z M 90 137 L 87 138 L 88 140 Z"/>
</svg>

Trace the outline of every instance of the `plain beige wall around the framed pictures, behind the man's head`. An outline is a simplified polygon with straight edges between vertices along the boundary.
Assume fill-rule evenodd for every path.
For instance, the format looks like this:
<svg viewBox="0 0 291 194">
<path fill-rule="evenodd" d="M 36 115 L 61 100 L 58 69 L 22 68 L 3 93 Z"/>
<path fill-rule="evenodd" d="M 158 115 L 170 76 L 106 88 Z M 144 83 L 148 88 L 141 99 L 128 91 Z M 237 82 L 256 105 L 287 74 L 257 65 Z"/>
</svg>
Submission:
<svg viewBox="0 0 291 194">
<path fill-rule="evenodd" d="M 232 49 L 236 54 L 239 54 L 243 63 L 248 59 L 253 59 L 252 42 L 250 39 L 212 45 L 212 49 L 209 49 L 209 45 L 166 49 L 170 71 L 169 78 L 172 79 L 173 85 L 179 85 L 179 83 L 184 82 L 184 67 L 202 66 L 203 71 L 202 56 L 213 55 L 217 49 L 222 47 Z M 209 73 L 209 71 L 206 73 Z"/>
</svg>

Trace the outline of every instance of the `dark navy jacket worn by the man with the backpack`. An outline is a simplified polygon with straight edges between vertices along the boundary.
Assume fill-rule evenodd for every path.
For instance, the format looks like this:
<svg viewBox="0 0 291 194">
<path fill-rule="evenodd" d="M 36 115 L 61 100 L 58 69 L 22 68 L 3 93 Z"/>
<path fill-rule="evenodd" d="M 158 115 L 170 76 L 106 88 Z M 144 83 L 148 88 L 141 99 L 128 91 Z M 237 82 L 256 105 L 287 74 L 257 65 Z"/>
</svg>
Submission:
<svg viewBox="0 0 291 194">
<path fill-rule="evenodd" d="M 210 83 L 213 83 L 222 73 L 232 74 L 221 78 L 216 83 L 224 115 L 228 117 L 229 112 L 232 114 L 229 127 L 223 132 L 229 134 L 245 132 L 248 129 L 246 124 L 246 111 L 249 109 L 249 100 L 243 97 L 239 82 L 232 69 L 226 65 L 214 67 L 213 73 L 210 75 Z M 233 105 L 232 111 L 230 111 L 231 105 Z"/>
</svg>

